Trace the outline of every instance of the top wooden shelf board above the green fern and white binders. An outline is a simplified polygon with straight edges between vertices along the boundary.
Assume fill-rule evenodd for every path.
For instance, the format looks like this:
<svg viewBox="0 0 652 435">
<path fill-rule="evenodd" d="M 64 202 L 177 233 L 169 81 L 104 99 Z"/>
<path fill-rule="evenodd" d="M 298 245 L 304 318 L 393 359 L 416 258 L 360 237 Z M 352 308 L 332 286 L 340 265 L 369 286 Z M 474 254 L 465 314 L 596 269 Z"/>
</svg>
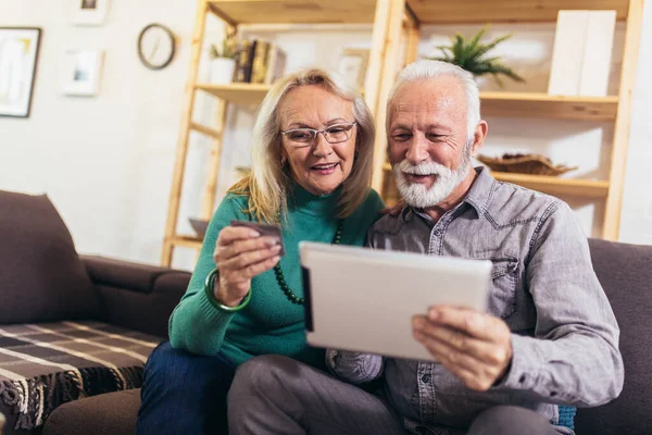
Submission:
<svg viewBox="0 0 652 435">
<path fill-rule="evenodd" d="M 615 10 L 627 18 L 629 0 L 406 0 L 422 24 L 556 22 L 560 10 Z"/>
</svg>

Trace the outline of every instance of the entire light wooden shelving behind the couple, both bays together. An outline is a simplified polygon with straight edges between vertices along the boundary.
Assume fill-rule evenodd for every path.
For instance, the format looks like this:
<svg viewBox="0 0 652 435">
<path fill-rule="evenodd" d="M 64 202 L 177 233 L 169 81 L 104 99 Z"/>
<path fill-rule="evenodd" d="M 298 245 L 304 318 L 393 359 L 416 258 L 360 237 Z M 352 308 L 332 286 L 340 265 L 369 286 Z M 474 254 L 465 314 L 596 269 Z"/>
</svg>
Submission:
<svg viewBox="0 0 652 435">
<path fill-rule="evenodd" d="M 387 96 L 401 64 L 417 57 L 421 27 L 428 24 L 485 24 L 555 22 L 560 10 L 615 10 L 626 23 L 620 87 L 617 96 L 557 97 L 546 94 L 482 92 L 482 114 L 488 116 L 529 116 L 594 122 L 613 122 L 614 142 L 609 179 L 573 179 L 536 175 L 494 173 L 498 179 L 519 184 L 551 195 L 575 195 L 604 200 L 606 239 L 616 239 L 625 178 L 631 115 L 632 88 L 644 0 L 198 0 L 191 63 L 186 86 L 184 114 L 176 153 L 171 199 L 163 244 L 162 263 L 170 265 L 175 247 L 200 248 L 201 240 L 176 232 L 181 184 L 190 132 L 213 139 L 208 182 L 204 188 L 202 219 L 214 210 L 217 171 L 222 153 L 223 126 L 228 104 L 259 104 L 269 87 L 265 85 L 211 85 L 197 82 L 203 46 L 205 17 L 214 14 L 230 32 L 249 24 L 361 24 L 373 23 L 372 50 L 364 96 L 376 119 L 374 188 L 386 199 L 392 181 L 386 162 L 385 108 Z M 405 49 L 401 50 L 404 42 Z M 399 59 L 403 53 L 403 59 Z M 192 121 L 197 91 L 213 95 L 220 101 L 217 128 Z"/>
</svg>

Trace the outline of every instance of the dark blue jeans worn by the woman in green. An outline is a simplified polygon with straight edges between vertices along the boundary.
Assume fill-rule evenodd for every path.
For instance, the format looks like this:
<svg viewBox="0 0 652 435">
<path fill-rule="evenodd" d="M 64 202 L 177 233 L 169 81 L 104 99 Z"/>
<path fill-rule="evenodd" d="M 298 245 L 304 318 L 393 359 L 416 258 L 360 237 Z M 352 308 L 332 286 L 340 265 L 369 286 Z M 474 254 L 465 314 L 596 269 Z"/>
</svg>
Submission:
<svg viewBox="0 0 652 435">
<path fill-rule="evenodd" d="M 228 434 L 226 395 L 235 371 L 222 353 L 199 357 L 162 343 L 145 365 L 136 433 Z"/>
</svg>

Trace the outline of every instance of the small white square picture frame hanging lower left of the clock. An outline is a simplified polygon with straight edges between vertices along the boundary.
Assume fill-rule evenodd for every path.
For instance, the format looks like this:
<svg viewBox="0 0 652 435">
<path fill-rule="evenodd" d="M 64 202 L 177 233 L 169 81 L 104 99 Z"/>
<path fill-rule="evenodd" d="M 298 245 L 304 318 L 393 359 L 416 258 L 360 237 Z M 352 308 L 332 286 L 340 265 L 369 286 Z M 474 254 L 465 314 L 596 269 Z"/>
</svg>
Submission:
<svg viewBox="0 0 652 435">
<path fill-rule="evenodd" d="M 61 91 L 67 96 L 95 97 L 100 94 L 104 52 L 67 50 L 61 69 Z"/>
</svg>

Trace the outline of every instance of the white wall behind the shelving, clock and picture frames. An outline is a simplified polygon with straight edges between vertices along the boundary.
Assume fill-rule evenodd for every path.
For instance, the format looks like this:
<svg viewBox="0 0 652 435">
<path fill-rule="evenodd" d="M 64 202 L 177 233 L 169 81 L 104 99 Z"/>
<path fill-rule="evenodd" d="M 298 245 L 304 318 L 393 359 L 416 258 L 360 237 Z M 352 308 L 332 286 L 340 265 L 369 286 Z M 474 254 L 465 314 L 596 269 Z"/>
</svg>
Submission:
<svg viewBox="0 0 652 435">
<path fill-rule="evenodd" d="M 0 117 L 0 188 L 48 192 L 82 252 L 158 263 L 189 64 L 195 2 L 113 0 L 109 20 L 101 27 L 70 24 L 61 12 L 66 3 L 65 0 L 0 0 L 0 25 L 43 28 L 32 115 L 28 120 Z M 648 2 L 622 220 L 624 240 L 648 244 L 652 244 L 652 189 L 649 188 L 652 89 L 642 77 L 651 76 L 652 70 L 651 9 Z M 138 33 L 151 22 L 172 27 L 179 37 L 175 61 L 160 72 L 142 66 L 135 51 Z M 419 52 L 430 54 L 432 45 L 442 37 L 476 28 L 427 28 Z M 490 34 L 504 32 L 514 32 L 515 37 L 498 54 L 510 55 L 507 60 L 525 71 L 528 78 L 525 89 L 546 91 L 554 26 L 494 25 Z M 220 36 L 213 22 L 210 35 L 209 40 Z M 341 48 L 369 46 L 371 27 L 324 32 L 318 41 L 314 32 L 306 28 L 256 30 L 248 36 L 274 39 L 291 52 L 288 70 L 308 65 L 336 69 Z M 622 38 L 619 28 L 615 60 L 620 57 Z M 59 92 L 61 54 L 76 47 L 106 50 L 102 89 L 97 98 L 71 98 Z M 202 63 L 201 77 L 209 74 L 208 67 Z M 614 71 L 617 70 L 615 65 Z M 612 75 L 612 82 L 617 83 L 617 74 Z M 505 84 L 510 90 L 521 86 Z M 212 104 L 211 98 L 198 94 L 198 121 L 211 123 Z M 248 144 L 254 116 L 253 108 L 229 114 L 217 198 L 235 179 L 234 166 L 249 163 Z M 489 119 L 489 123 L 487 153 L 534 150 L 554 161 L 579 165 L 580 170 L 569 176 L 606 175 L 611 124 L 526 119 Z M 190 233 L 187 217 L 200 210 L 209 146 L 205 138 L 192 135 L 179 222 L 179 228 L 186 233 Z M 601 207 L 570 202 L 587 233 L 595 234 L 601 225 L 601 220 L 595 219 L 603 212 Z M 177 251 L 174 264 L 191 268 L 195 253 Z"/>
</svg>

